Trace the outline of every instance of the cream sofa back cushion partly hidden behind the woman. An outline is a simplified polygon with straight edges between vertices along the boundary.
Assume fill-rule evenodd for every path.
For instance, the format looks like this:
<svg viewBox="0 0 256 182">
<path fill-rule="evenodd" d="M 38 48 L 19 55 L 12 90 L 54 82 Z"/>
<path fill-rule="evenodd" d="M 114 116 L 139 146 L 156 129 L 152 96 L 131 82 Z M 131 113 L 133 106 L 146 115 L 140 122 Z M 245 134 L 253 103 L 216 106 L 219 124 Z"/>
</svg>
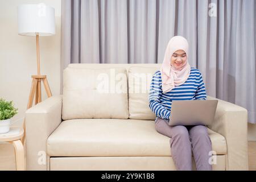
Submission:
<svg viewBox="0 0 256 182">
<path fill-rule="evenodd" d="M 148 106 L 148 93 L 150 91 L 152 76 L 157 70 L 158 68 L 129 68 L 128 87 L 130 119 L 155 119 L 155 113 Z"/>
</svg>

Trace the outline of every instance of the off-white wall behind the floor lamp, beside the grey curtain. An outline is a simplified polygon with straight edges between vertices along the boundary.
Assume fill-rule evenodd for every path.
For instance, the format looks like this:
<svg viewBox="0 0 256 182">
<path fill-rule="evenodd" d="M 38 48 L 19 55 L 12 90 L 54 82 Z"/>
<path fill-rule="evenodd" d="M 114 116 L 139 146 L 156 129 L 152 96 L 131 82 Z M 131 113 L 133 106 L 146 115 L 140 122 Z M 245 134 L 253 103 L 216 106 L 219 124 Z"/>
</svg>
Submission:
<svg viewBox="0 0 256 182">
<path fill-rule="evenodd" d="M 60 25 L 61 0 L 0 0 L 0 98 L 14 101 L 19 109 L 15 125 L 22 126 L 31 87 L 31 75 L 37 74 L 35 36 L 18 35 L 18 5 L 45 3 L 55 8 L 56 34 L 41 36 L 41 75 L 47 80 L 53 95 L 60 93 Z M 42 100 L 47 94 L 42 84 Z"/>
</svg>

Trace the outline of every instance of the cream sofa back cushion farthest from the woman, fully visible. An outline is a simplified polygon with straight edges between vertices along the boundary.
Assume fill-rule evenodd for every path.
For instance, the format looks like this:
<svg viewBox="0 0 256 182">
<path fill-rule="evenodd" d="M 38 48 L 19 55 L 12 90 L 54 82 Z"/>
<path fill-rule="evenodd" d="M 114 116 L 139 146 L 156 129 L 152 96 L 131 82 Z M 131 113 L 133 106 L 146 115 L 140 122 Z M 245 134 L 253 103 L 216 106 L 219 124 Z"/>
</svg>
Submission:
<svg viewBox="0 0 256 182">
<path fill-rule="evenodd" d="M 66 68 L 63 74 L 62 118 L 127 119 L 125 68 Z"/>
</svg>

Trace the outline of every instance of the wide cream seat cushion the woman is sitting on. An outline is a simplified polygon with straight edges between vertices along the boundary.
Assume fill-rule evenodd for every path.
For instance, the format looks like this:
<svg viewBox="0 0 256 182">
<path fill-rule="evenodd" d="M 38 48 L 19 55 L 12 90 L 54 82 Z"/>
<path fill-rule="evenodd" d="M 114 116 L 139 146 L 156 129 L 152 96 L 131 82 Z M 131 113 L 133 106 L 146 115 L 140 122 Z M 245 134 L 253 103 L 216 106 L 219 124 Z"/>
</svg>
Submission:
<svg viewBox="0 0 256 182">
<path fill-rule="evenodd" d="M 226 154 L 225 138 L 208 130 L 213 151 Z M 154 121 L 135 119 L 71 119 L 47 139 L 49 156 L 171 156 L 170 138 Z"/>
</svg>

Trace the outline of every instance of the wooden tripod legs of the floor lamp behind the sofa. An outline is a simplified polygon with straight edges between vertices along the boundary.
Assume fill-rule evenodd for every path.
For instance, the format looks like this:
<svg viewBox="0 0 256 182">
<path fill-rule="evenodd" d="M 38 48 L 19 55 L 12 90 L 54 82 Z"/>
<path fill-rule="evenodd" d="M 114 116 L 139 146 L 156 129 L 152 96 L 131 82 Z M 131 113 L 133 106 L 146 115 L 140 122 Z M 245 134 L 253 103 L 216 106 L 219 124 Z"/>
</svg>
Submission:
<svg viewBox="0 0 256 182">
<path fill-rule="evenodd" d="M 35 105 L 42 101 L 41 93 L 41 81 L 43 81 L 44 88 L 48 97 L 52 96 L 51 89 L 46 78 L 46 75 L 32 75 L 32 85 L 30 89 L 30 96 L 28 98 L 27 109 L 30 108 L 33 104 L 35 98 Z"/>
</svg>

